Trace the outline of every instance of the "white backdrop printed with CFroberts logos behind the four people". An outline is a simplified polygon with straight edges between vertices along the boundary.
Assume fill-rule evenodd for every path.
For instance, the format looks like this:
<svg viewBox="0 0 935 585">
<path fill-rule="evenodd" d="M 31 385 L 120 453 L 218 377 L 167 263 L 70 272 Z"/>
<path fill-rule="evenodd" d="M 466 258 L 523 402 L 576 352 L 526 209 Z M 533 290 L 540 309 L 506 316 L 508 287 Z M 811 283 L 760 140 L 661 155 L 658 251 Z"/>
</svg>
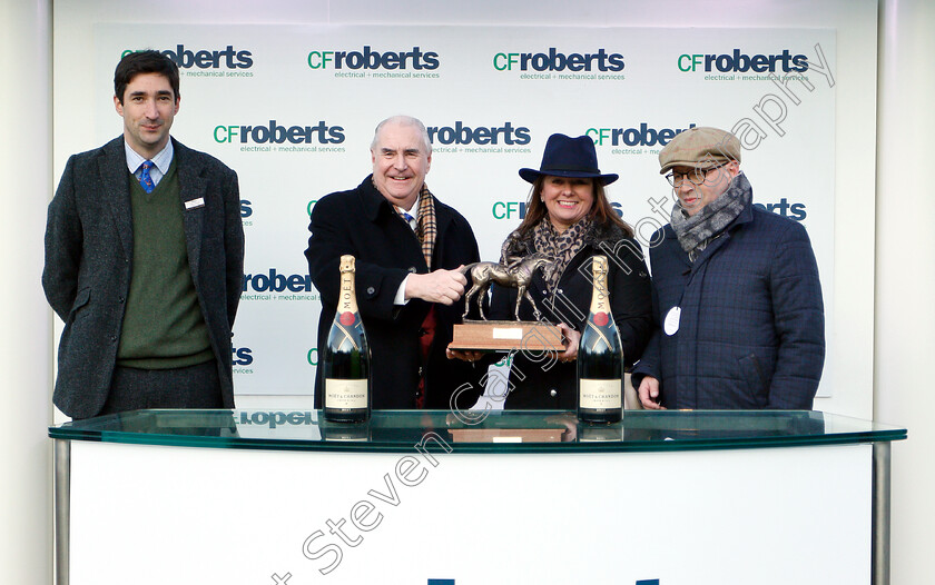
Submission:
<svg viewBox="0 0 935 585">
<path fill-rule="evenodd" d="M 826 29 L 98 24 L 95 135 L 120 131 L 126 50 L 181 67 L 173 135 L 237 170 L 247 237 L 235 326 L 238 394 L 311 394 L 321 310 L 303 250 L 308 211 L 370 172 L 373 127 L 411 113 L 435 149 L 426 179 L 496 259 L 549 135 L 587 133 L 609 196 L 643 244 L 673 199 L 657 153 L 691 126 L 734 129 L 754 200 L 801 221 L 834 329 L 835 47 Z M 548 39 L 548 40 L 545 40 Z M 770 79 L 770 71 L 774 71 Z M 780 82 L 780 79 L 783 82 Z M 68 132 L 67 126 L 57 127 Z M 830 394 L 831 364 L 823 395 Z"/>
</svg>

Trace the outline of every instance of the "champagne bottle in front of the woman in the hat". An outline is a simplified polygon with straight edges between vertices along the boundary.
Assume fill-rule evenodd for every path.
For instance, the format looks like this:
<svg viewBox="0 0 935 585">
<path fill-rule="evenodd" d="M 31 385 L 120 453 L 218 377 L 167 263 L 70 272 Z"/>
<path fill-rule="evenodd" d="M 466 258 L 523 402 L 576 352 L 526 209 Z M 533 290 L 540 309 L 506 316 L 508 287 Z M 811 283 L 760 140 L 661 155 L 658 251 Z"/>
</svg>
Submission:
<svg viewBox="0 0 935 585">
<path fill-rule="evenodd" d="M 617 423 L 623 416 L 623 350 L 610 314 L 607 256 L 594 256 L 591 310 L 578 346 L 578 418 Z"/>
</svg>

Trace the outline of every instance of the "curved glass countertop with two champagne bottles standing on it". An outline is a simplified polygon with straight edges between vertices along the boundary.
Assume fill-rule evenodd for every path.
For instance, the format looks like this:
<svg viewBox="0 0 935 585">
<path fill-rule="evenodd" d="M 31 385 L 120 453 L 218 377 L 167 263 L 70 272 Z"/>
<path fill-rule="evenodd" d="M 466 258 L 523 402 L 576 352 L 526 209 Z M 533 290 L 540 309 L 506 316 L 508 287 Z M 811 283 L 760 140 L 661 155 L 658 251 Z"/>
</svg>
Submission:
<svg viewBox="0 0 935 585">
<path fill-rule="evenodd" d="M 49 428 L 56 439 L 184 447 L 407 453 L 596 453 L 877 443 L 906 429 L 809 410 L 626 410 L 589 425 L 561 410 L 374 410 L 366 424 L 321 410 L 135 410 Z"/>
</svg>

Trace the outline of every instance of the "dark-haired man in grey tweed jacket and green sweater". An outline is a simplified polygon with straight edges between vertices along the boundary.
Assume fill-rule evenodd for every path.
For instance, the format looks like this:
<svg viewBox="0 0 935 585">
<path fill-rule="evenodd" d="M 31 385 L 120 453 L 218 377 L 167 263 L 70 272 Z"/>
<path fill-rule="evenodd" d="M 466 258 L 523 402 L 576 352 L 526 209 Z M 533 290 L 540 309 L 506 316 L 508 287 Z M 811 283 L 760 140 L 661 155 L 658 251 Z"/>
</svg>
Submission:
<svg viewBox="0 0 935 585">
<path fill-rule="evenodd" d="M 124 136 L 72 156 L 49 205 L 42 286 L 65 321 L 53 400 L 72 418 L 234 407 L 237 175 L 169 137 L 178 79 L 157 51 L 124 57 Z"/>
</svg>

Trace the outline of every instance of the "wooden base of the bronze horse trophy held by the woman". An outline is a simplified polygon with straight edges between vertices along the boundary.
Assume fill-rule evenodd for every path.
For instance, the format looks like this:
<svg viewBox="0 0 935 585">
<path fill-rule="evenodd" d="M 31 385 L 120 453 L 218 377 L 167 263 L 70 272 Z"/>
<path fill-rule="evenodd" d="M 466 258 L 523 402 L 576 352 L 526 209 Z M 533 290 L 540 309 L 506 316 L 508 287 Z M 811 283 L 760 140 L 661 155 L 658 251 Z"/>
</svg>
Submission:
<svg viewBox="0 0 935 585">
<path fill-rule="evenodd" d="M 562 330 L 539 321 L 466 321 L 454 326 L 449 349 L 564 351 Z"/>
</svg>

